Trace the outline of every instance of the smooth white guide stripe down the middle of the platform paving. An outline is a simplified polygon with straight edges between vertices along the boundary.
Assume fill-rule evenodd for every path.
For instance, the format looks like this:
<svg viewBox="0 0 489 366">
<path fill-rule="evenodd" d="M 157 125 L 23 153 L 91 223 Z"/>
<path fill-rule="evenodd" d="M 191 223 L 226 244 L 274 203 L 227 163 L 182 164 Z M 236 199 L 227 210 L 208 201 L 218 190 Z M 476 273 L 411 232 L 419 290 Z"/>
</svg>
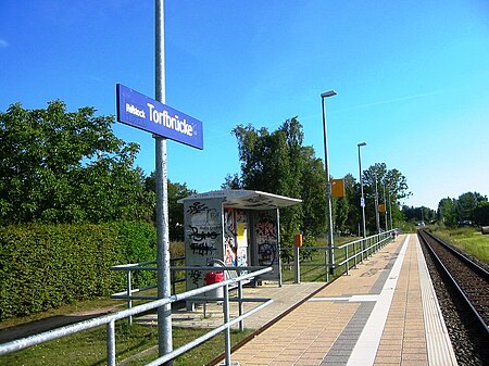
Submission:
<svg viewBox="0 0 489 366">
<path fill-rule="evenodd" d="M 353 348 L 347 366 L 374 365 L 378 345 L 380 344 L 380 339 L 383 337 L 384 327 L 389 314 L 390 304 L 398 283 L 398 278 L 401 273 L 402 263 L 404 262 L 409 241 L 410 235 L 406 235 L 404 241 L 402 242 L 402 248 L 399 255 L 390 269 L 389 276 L 384 283 L 380 294 L 378 295 L 378 301 L 375 304 L 355 346 Z"/>
</svg>

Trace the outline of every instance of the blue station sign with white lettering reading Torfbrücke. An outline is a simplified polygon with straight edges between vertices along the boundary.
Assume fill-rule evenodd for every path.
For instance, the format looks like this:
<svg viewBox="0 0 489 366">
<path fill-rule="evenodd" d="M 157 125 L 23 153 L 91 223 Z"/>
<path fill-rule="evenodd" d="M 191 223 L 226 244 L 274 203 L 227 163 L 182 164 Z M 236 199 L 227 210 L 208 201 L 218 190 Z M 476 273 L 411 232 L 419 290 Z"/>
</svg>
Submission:
<svg viewBox="0 0 489 366">
<path fill-rule="evenodd" d="M 203 149 L 202 122 L 121 84 L 116 89 L 118 122 Z"/>
</svg>

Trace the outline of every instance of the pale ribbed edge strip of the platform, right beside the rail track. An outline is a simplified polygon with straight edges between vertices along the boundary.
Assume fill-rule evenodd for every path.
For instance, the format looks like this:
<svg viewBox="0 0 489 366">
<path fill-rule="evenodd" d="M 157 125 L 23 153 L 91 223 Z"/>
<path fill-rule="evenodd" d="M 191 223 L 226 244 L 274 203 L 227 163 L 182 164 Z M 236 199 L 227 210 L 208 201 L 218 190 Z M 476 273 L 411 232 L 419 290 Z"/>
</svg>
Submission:
<svg viewBox="0 0 489 366">
<path fill-rule="evenodd" d="M 444 325 L 443 314 L 438 303 L 428 266 L 416 236 L 417 264 L 419 272 L 419 286 L 422 290 L 423 315 L 425 319 L 426 344 L 428 351 L 428 365 L 451 366 L 457 365 L 455 352 Z"/>
</svg>

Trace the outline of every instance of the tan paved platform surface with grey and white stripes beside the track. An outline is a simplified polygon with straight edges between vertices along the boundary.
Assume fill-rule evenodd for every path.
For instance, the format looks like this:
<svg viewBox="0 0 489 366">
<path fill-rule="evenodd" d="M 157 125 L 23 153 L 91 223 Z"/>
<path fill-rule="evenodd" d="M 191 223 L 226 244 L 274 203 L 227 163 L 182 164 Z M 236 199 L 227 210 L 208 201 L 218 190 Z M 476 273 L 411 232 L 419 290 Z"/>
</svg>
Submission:
<svg viewBox="0 0 489 366">
<path fill-rule="evenodd" d="M 241 366 L 456 364 L 414 235 L 315 293 L 231 359 Z"/>
</svg>

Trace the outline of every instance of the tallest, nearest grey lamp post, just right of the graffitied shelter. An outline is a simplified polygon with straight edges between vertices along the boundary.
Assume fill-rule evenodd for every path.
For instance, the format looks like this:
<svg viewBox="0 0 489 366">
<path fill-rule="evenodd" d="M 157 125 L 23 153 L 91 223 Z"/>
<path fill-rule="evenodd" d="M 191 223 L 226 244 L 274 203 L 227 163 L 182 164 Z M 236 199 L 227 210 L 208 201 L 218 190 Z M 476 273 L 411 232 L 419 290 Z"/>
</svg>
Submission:
<svg viewBox="0 0 489 366">
<path fill-rule="evenodd" d="M 333 239 L 333 212 L 331 212 L 331 182 L 329 181 L 329 161 L 328 161 L 328 137 L 326 129 L 326 109 L 325 109 L 325 98 L 336 96 L 335 90 L 325 91 L 321 94 L 321 105 L 323 108 L 323 132 L 324 132 L 324 171 L 326 174 L 326 216 L 328 219 L 328 225 L 326 228 L 328 247 L 329 247 L 329 273 L 335 274 L 335 248 Z M 328 270 L 326 268 L 326 276 Z"/>
</svg>

